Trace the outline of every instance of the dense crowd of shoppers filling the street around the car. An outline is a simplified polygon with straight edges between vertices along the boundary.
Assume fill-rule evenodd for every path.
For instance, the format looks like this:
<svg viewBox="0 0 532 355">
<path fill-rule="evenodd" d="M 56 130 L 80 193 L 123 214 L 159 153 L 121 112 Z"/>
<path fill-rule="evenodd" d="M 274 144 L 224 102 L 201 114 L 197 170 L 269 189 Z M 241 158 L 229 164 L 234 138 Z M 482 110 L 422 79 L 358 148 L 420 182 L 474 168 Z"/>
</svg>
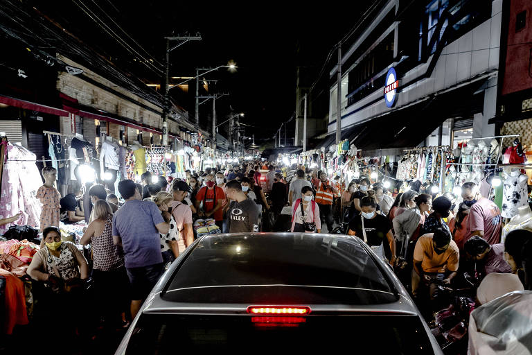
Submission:
<svg viewBox="0 0 532 355">
<path fill-rule="evenodd" d="M 53 173 L 43 171 L 46 189 Z M 513 231 L 501 243 L 498 207 L 475 183 L 461 188 L 461 196 L 410 189 L 393 197 L 370 178 L 344 181 L 303 165 L 258 161 L 186 171 L 184 179 L 144 173 L 141 184 L 118 183 L 123 201 L 101 184 L 87 189 L 85 211 L 74 196 L 62 199 L 62 209 L 69 206 L 65 220 L 89 223 L 81 244 L 91 245 L 90 260 L 61 241 L 53 225 L 59 216 L 50 214 L 43 248 L 28 275 L 49 286 L 50 302 L 63 304 L 73 304 L 91 278 L 91 302 L 101 305 L 100 318 L 127 327 L 168 264 L 195 240 L 195 221 L 210 218 L 224 233 L 290 230 L 358 237 L 393 267 L 420 304 L 437 300 L 437 286 L 459 282 L 464 272 L 479 275 L 480 304 L 531 289 L 532 232 Z M 289 223 L 276 223 L 282 216 Z"/>
</svg>

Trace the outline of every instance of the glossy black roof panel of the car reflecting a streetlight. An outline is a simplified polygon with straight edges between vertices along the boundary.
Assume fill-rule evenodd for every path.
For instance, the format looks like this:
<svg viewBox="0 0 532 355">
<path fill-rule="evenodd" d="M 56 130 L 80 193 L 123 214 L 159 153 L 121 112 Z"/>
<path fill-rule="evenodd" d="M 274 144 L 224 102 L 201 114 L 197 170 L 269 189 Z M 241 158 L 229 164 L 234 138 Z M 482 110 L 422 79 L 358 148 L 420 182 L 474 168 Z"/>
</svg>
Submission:
<svg viewBox="0 0 532 355">
<path fill-rule="evenodd" d="M 292 287 L 294 294 L 311 289 L 312 293 L 327 293 L 317 297 L 322 301 L 334 297 L 331 290 L 343 294 L 344 297 L 339 297 L 342 302 L 351 304 L 387 303 L 398 299 L 383 270 L 357 239 L 319 234 L 238 234 L 204 238 L 172 275 L 162 297 L 176 302 L 201 302 L 197 299 L 201 297 L 198 293 L 216 297 L 217 293 L 206 288 L 218 288 L 218 295 L 224 293 L 229 297 L 225 302 L 240 303 L 239 299 L 245 298 L 246 292 L 268 292 L 256 291 L 259 287 L 269 286 L 272 292 L 283 293 L 274 290 L 278 285 Z M 239 286 L 238 292 L 229 291 L 235 286 Z M 199 290 L 201 288 L 204 289 Z M 234 300 L 230 299 L 231 293 Z M 301 297 L 301 302 L 311 302 Z M 211 299 L 210 302 L 220 301 Z"/>
</svg>

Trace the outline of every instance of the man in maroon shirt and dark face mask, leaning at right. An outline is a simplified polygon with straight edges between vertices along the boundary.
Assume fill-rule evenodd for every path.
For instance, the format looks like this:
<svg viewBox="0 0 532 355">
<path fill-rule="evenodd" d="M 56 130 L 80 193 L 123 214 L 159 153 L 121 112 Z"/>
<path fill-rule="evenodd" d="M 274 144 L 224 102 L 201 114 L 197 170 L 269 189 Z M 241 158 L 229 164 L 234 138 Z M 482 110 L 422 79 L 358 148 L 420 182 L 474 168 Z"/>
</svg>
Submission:
<svg viewBox="0 0 532 355">
<path fill-rule="evenodd" d="M 463 203 L 470 207 L 469 230 L 472 236 L 481 236 L 490 245 L 501 240 L 501 210 L 492 200 L 482 197 L 475 182 L 462 185 Z"/>
</svg>

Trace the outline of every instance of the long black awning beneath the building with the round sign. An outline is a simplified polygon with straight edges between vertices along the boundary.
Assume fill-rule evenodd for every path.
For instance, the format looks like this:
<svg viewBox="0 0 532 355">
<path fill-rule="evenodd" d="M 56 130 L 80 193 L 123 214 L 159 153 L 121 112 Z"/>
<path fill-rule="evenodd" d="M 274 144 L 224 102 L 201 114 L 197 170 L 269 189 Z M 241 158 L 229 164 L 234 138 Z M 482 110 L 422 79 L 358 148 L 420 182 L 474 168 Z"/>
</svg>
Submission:
<svg viewBox="0 0 532 355">
<path fill-rule="evenodd" d="M 481 112 L 484 92 L 475 92 L 483 83 L 478 81 L 443 94 L 427 96 L 414 105 L 355 125 L 347 138 L 350 144 L 362 149 L 365 156 L 374 155 L 372 153 L 377 150 L 393 150 L 396 153 L 403 148 L 416 147 L 446 119 Z"/>
</svg>

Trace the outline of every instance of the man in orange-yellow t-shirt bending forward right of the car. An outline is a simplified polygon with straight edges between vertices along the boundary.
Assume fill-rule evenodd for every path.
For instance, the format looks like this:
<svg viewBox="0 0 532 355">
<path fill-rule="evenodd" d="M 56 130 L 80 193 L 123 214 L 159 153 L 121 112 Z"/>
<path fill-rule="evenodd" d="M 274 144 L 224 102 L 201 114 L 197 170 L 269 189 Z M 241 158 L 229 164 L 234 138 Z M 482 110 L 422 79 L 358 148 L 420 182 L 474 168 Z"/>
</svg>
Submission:
<svg viewBox="0 0 532 355">
<path fill-rule="evenodd" d="M 412 293 L 421 296 L 427 291 L 430 300 L 435 300 L 438 282 L 450 284 L 458 270 L 460 252 L 451 239 L 451 234 L 443 228 L 434 233 L 420 236 L 414 249 L 414 272 L 412 272 Z M 425 294 L 426 295 L 426 294 Z"/>
</svg>

